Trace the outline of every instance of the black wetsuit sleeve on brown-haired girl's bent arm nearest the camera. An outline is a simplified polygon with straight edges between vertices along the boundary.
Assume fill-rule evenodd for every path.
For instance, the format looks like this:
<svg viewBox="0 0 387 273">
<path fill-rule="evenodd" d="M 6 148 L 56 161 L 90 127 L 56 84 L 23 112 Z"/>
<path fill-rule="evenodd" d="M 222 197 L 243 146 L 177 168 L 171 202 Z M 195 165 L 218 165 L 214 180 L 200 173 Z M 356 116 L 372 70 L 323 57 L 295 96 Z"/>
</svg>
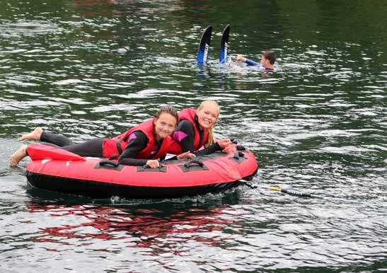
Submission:
<svg viewBox="0 0 387 273">
<path fill-rule="evenodd" d="M 148 144 L 148 138 L 141 131 L 137 131 L 132 134 L 136 137 L 131 139 L 125 150 L 122 151 L 121 156 L 118 159 L 118 163 L 121 165 L 146 165 L 146 161 L 148 161 L 148 159 L 137 159 L 134 158 L 134 156 L 145 149 L 146 144 Z"/>
</svg>

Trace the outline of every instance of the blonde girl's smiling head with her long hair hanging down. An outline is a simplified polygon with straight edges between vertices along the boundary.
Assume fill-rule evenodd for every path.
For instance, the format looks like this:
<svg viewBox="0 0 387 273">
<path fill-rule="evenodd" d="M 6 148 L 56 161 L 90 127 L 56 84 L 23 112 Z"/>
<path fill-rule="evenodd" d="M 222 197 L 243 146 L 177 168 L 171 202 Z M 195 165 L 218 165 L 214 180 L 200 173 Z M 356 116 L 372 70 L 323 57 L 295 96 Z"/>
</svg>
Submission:
<svg viewBox="0 0 387 273">
<path fill-rule="evenodd" d="M 219 113 L 219 105 L 214 100 L 204 100 L 196 109 L 197 122 L 200 125 L 200 129 L 208 130 L 208 145 L 213 143 L 212 128 L 216 120 L 218 120 Z"/>
</svg>

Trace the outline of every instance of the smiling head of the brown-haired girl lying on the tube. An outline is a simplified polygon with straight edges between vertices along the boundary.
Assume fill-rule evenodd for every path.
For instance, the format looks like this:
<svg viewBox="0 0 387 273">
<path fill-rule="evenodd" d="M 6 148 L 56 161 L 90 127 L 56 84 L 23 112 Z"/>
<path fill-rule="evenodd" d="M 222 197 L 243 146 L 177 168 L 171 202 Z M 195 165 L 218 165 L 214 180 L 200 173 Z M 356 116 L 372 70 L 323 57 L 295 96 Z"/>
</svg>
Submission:
<svg viewBox="0 0 387 273">
<path fill-rule="evenodd" d="M 171 136 L 178 124 L 178 111 L 173 106 L 162 106 L 154 115 L 154 132 L 156 139 Z"/>
</svg>

